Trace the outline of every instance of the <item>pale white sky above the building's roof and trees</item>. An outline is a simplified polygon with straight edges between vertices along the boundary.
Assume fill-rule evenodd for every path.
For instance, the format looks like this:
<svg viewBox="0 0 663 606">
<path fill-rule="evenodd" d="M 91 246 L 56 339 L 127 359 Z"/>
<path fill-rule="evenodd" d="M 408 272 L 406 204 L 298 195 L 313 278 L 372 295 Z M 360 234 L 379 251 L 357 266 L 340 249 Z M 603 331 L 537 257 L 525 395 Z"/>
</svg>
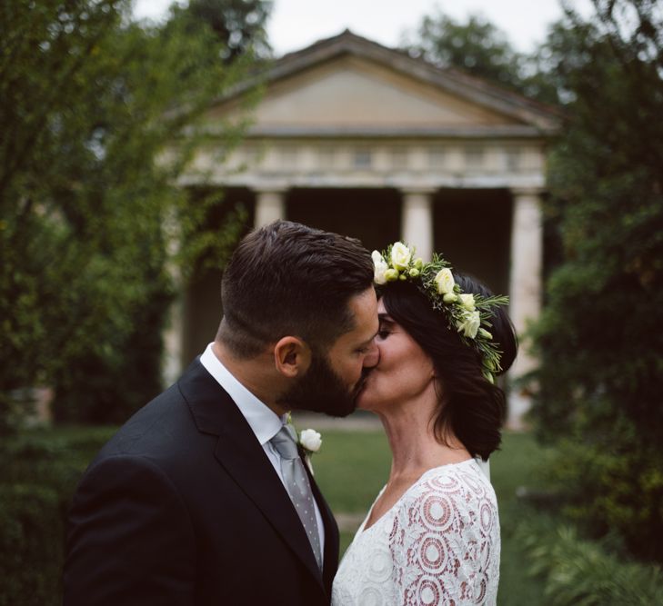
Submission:
<svg viewBox="0 0 663 606">
<path fill-rule="evenodd" d="M 171 0 L 136 0 L 135 15 L 158 19 Z M 589 15 L 590 0 L 570 0 Z M 276 56 L 299 50 L 348 28 L 381 45 L 397 46 L 423 15 L 439 8 L 461 22 L 484 15 L 507 34 L 518 51 L 531 52 L 546 38 L 547 26 L 562 14 L 559 0 L 275 0 L 267 22 Z"/>
</svg>

